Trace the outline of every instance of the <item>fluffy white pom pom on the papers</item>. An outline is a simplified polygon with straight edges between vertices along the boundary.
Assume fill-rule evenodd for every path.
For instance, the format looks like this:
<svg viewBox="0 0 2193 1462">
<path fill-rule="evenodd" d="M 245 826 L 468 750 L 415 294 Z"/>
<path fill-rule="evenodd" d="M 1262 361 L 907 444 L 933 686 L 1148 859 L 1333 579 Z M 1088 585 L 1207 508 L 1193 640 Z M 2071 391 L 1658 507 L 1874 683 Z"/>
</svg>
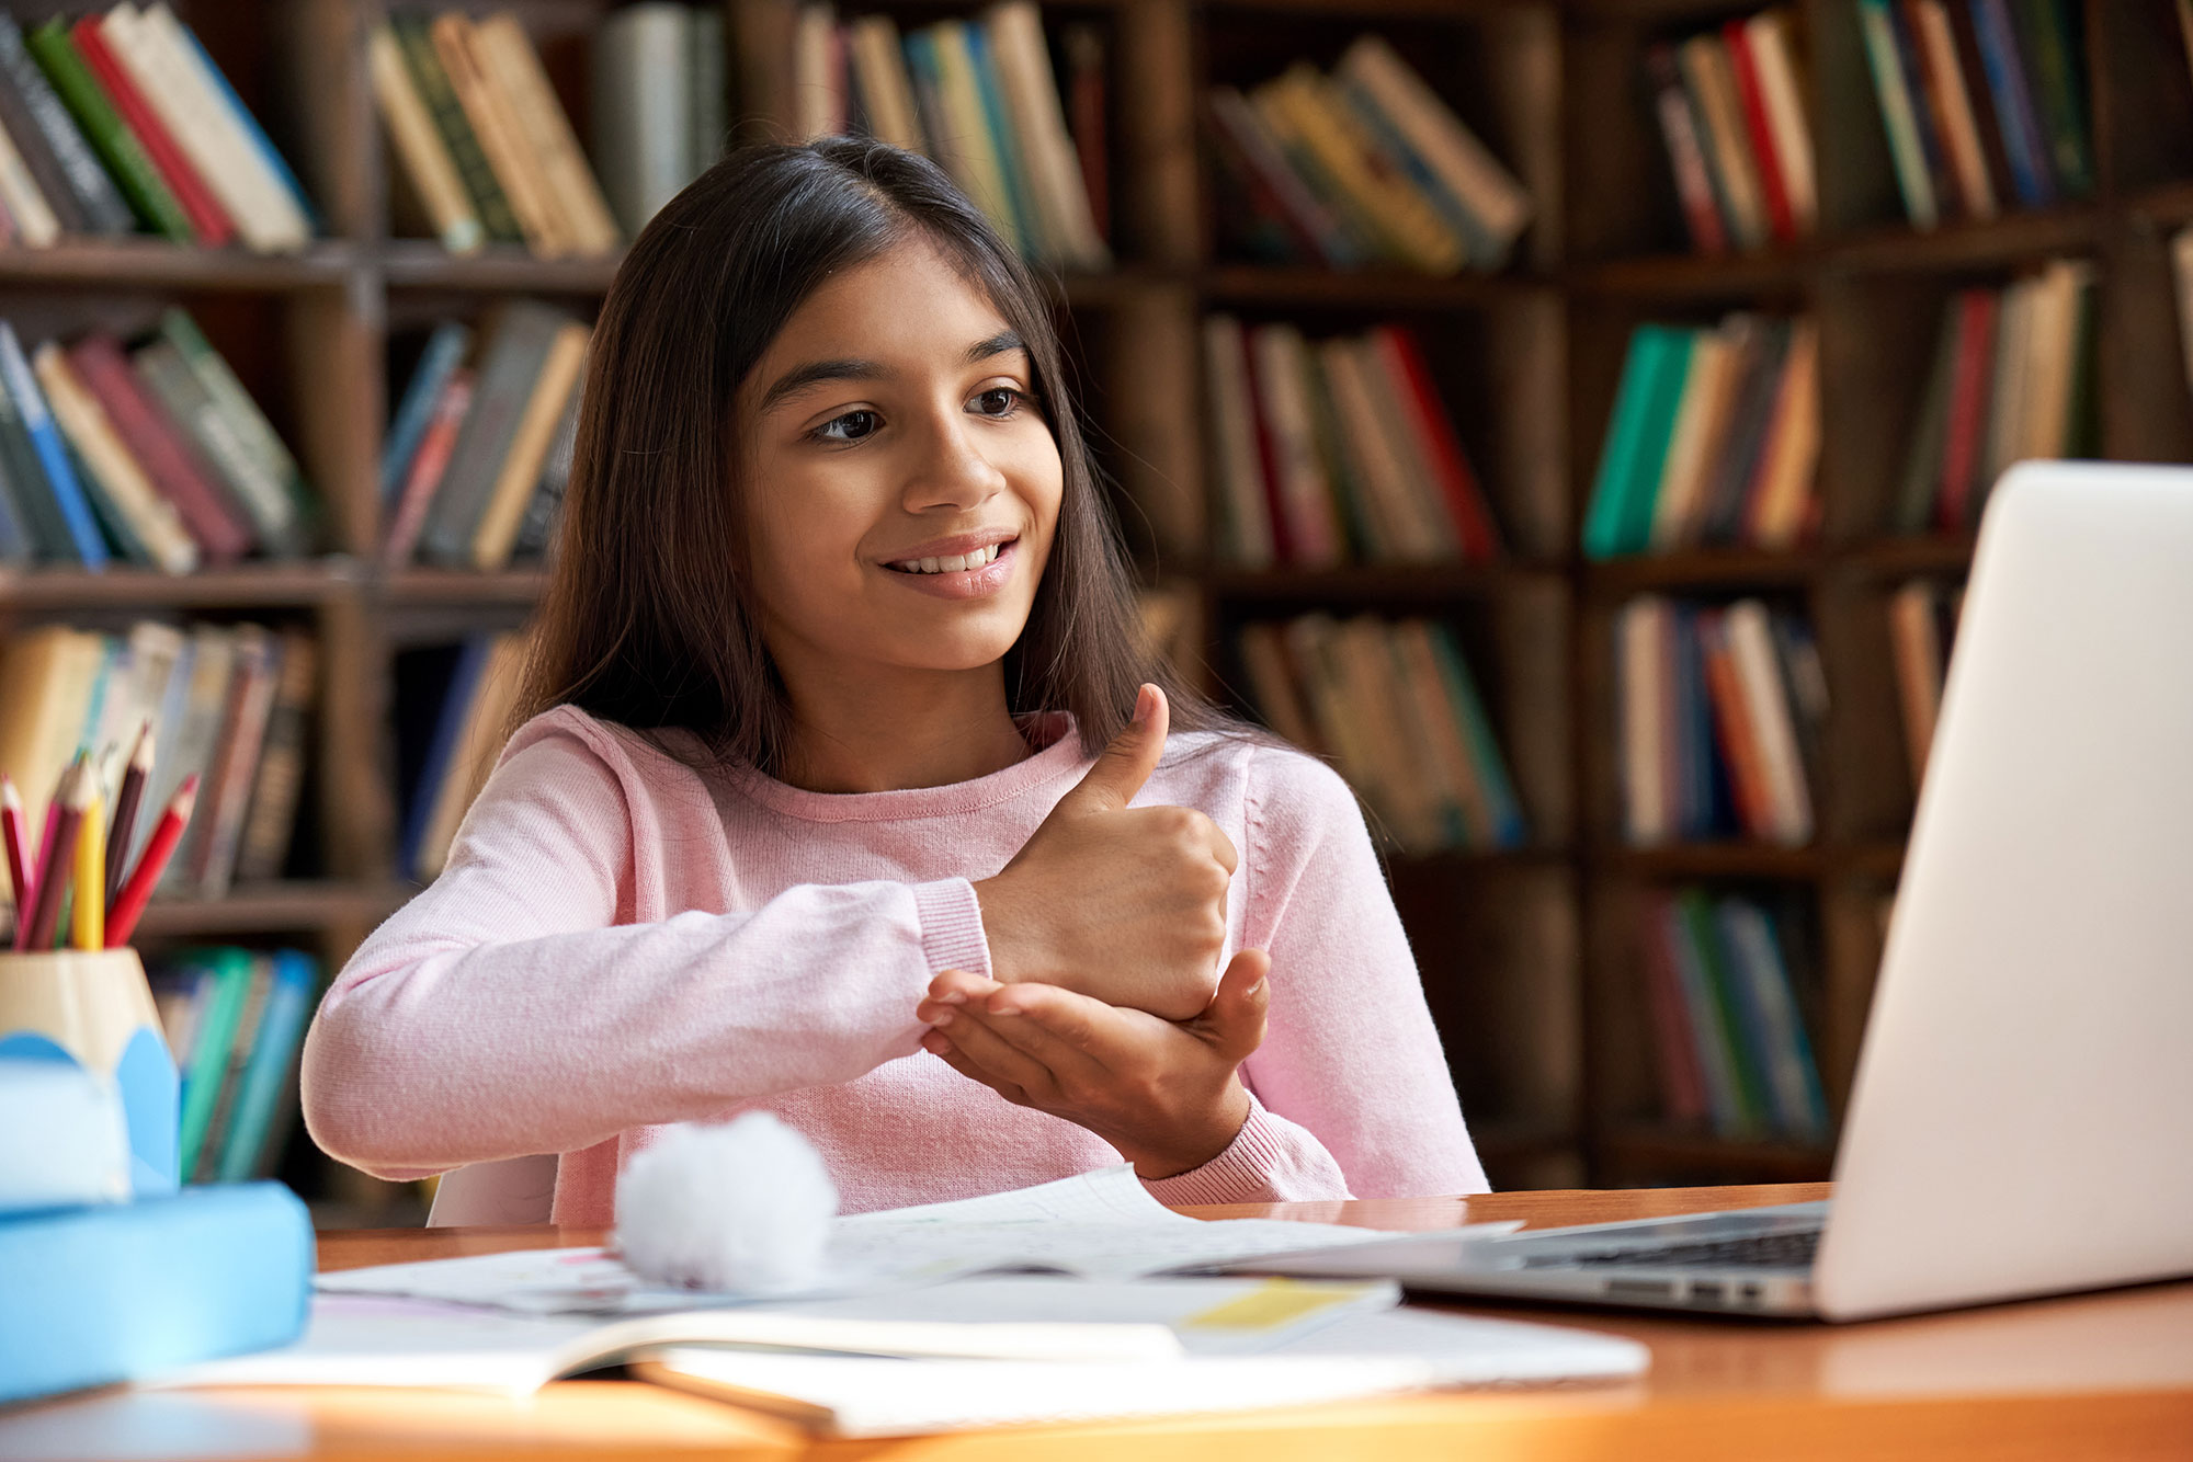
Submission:
<svg viewBox="0 0 2193 1462">
<path fill-rule="evenodd" d="M 656 1284 L 811 1289 L 836 1217 L 822 1155 L 768 1111 L 721 1127 L 682 1122 L 616 1179 L 616 1247 Z"/>
</svg>

